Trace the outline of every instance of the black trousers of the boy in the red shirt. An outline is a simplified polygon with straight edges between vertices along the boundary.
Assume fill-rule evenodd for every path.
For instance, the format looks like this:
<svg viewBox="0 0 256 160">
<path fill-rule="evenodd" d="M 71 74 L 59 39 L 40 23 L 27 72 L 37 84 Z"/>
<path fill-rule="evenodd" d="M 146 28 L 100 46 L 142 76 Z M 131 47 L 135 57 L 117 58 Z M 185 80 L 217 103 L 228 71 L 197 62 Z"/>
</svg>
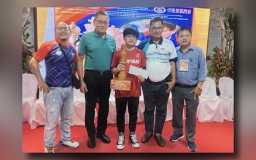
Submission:
<svg viewBox="0 0 256 160">
<path fill-rule="evenodd" d="M 136 130 L 139 97 L 115 98 L 115 106 L 117 107 L 117 130 L 119 133 L 125 132 L 126 105 L 128 105 L 129 112 L 129 130 L 130 132 L 135 132 Z"/>
</svg>

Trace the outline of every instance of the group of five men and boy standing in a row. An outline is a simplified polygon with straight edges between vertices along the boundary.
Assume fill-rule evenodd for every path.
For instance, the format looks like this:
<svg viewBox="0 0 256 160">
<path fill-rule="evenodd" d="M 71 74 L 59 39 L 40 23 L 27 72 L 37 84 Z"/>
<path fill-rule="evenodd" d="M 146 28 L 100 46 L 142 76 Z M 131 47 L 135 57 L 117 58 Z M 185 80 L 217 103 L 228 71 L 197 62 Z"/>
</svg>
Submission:
<svg viewBox="0 0 256 160">
<path fill-rule="evenodd" d="M 162 37 L 163 20 L 153 17 L 149 24 L 151 37 L 134 47 L 139 33 L 136 28 L 126 28 L 123 38 L 127 46 L 128 58 L 139 61 L 136 65 L 118 64 L 120 50 L 116 50 L 115 39 L 106 33 L 109 27 L 109 15 L 104 11 L 96 12 L 93 20 L 95 30 L 84 34 L 80 39 L 78 51 L 68 39 L 71 36 L 67 22 L 56 23 L 56 39 L 44 42 L 30 61 L 33 73 L 38 79 L 38 86 L 43 90 L 43 100 L 46 106 L 46 125 L 44 127 L 44 152 L 54 152 L 56 125 L 60 116 L 59 128 L 61 137 L 59 145 L 76 148 L 78 142 L 70 139 L 70 124 L 73 110 L 73 87 L 68 69 L 78 72 L 80 91 L 85 94 L 86 111 L 85 126 L 88 133 L 88 148 L 96 146 L 95 138 L 104 143 L 110 143 L 105 134 L 107 116 L 109 113 L 110 80 L 125 70 L 126 75 L 133 79 L 131 91 L 115 90 L 117 107 L 118 140 L 117 149 L 124 148 L 124 114 L 128 106 L 129 140 L 134 148 L 139 148 L 136 138 L 136 120 L 141 95 L 144 94 L 145 134 L 141 142 L 146 143 L 154 135 L 159 146 L 165 146 L 162 137 L 163 125 L 167 115 L 167 102 L 172 94 L 173 100 L 173 135 L 171 142 L 177 142 L 183 134 L 183 106 L 186 101 L 186 143 L 190 151 L 196 151 L 194 143 L 196 133 L 196 110 L 202 84 L 207 76 L 207 66 L 202 49 L 191 44 L 191 29 L 181 27 L 178 30 L 180 46 L 176 47 L 168 39 Z M 63 50 L 62 50 L 62 49 Z M 83 60 L 85 58 L 85 64 Z M 38 63 L 46 63 L 46 78 L 40 74 Z M 68 61 L 68 63 L 67 63 Z M 185 65 L 184 65 L 185 64 Z M 83 75 L 83 65 L 85 72 Z M 149 71 L 147 79 L 141 75 L 128 74 L 130 65 L 146 68 Z M 139 88 L 139 89 L 138 89 Z M 99 103 L 97 127 L 94 124 L 96 103 Z"/>
</svg>

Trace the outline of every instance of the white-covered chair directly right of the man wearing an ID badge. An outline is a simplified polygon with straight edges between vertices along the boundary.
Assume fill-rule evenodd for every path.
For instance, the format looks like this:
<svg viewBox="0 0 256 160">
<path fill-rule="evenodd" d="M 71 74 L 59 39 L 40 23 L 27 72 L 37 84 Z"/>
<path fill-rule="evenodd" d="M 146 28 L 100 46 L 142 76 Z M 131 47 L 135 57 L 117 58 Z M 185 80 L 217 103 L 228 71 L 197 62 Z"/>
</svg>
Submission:
<svg viewBox="0 0 256 160">
<path fill-rule="evenodd" d="M 216 84 L 212 78 L 207 77 L 202 86 L 197 118 L 199 122 L 223 122 L 221 99 L 217 96 Z"/>
</svg>

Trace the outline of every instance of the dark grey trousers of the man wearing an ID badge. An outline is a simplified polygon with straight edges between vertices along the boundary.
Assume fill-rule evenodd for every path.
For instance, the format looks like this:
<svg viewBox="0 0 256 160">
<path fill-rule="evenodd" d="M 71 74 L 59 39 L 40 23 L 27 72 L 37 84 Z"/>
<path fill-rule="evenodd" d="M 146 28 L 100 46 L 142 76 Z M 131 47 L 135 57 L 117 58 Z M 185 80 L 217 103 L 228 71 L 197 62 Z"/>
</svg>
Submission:
<svg viewBox="0 0 256 160">
<path fill-rule="evenodd" d="M 189 93 L 195 87 L 183 88 L 175 86 L 171 91 L 173 100 L 173 132 L 175 135 L 183 134 L 183 106 L 186 102 L 186 140 L 194 142 L 196 134 L 196 112 L 199 105 L 199 98 L 194 100 L 194 93 Z"/>
</svg>

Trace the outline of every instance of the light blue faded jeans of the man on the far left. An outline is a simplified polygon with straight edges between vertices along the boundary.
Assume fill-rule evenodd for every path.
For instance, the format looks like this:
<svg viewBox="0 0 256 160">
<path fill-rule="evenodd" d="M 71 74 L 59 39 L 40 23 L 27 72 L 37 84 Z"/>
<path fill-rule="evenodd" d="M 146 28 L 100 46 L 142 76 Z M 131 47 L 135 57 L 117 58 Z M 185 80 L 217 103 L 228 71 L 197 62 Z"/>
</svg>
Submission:
<svg viewBox="0 0 256 160">
<path fill-rule="evenodd" d="M 73 87 L 50 87 L 49 94 L 44 93 L 44 105 L 46 107 L 46 124 L 44 126 L 44 145 L 54 146 L 56 138 L 56 126 L 60 116 L 60 140 L 70 140 L 70 125 L 73 118 Z"/>
</svg>

